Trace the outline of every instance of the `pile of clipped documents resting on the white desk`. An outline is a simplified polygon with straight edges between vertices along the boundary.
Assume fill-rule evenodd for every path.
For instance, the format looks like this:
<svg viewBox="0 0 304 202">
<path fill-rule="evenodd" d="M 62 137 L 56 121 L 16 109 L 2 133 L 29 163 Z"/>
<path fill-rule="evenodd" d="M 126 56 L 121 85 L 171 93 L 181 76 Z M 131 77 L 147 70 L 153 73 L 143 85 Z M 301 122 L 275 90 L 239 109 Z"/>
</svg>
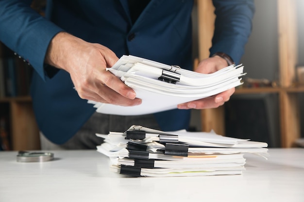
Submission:
<svg viewBox="0 0 304 202">
<path fill-rule="evenodd" d="M 131 176 L 235 175 L 245 169 L 245 153 L 268 156 L 268 144 L 214 132 L 163 132 L 132 125 L 126 132 L 96 134 L 97 151 L 109 156 L 110 170 Z"/>
</svg>

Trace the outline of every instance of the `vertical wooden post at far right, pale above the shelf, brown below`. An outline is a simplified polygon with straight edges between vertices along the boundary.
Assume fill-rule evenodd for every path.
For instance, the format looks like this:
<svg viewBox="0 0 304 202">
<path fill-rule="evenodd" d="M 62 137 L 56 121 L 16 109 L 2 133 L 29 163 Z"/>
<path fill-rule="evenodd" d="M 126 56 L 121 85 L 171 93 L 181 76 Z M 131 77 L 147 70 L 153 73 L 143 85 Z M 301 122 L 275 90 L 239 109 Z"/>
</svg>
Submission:
<svg viewBox="0 0 304 202">
<path fill-rule="evenodd" d="M 280 85 L 292 86 L 298 62 L 296 0 L 277 0 Z M 297 93 L 281 91 L 281 146 L 292 147 L 300 138 L 300 115 Z"/>
</svg>

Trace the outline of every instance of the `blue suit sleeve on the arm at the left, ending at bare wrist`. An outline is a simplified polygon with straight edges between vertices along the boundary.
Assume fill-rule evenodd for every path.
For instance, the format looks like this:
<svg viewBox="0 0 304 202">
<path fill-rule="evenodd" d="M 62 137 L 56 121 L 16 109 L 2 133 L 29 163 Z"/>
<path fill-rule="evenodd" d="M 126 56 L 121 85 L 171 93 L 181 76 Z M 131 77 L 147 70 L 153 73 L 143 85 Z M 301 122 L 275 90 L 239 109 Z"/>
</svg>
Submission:
<svg viewBox="0 0 304 202">
<path fill-rule="evenodd" d="M 47 76 L 44 58 L 51 39 L 60 31 L 31 8 L 32 0 L 0 0 L 0 41 Z"/>
</svg>

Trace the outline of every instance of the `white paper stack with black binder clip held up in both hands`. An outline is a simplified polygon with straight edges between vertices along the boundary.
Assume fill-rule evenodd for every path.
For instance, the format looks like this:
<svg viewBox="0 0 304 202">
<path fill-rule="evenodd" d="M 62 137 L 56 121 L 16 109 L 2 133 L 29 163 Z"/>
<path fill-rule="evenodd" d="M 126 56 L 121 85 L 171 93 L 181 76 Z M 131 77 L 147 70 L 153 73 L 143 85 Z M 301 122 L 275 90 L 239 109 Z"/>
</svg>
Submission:
<svg viewBox="0 0 304 202">
<path fill-rule="evenodd" d="M 135 57 L 122 56 L 107 69 L 120 78 L 142 99 L 142 104 L 123 107 L 94 104 L 96 111 L 116 115 L 142 115 L 175 109 L 178 104 L 212 96 L 241 85 L 242 65 L 231 65 L 212 74 L 200 74 L 178 66 Z"/>
</svg>

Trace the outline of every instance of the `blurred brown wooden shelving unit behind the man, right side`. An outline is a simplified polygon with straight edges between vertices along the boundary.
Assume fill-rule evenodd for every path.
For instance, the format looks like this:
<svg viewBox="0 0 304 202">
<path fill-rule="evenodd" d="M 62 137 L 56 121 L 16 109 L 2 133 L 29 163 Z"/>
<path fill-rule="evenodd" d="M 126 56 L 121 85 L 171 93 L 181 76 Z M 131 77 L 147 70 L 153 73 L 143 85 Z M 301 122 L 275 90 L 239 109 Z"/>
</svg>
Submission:
<svg viewBox="0 0 304 202">
<path fill-rule="evenodd" d="M 214 7 L 211 0 L 198 0 L 199 59 L 209 57 L 211 38 L 214 30 Z M 237 89 L 236 94 L 278 93 L 281 147 L 292 147 L 300 137 L 300 115 L 298 93 L 304 92 L 303 86 L 294 87 L 295 67 L 297 64 L 296 0 L 277 0 L 278 16 L 278 56 L 280 80 L 276 88 Z M 225 134 L 224 110 L 202 110 L 203 131 L 214 129 Z"/>
</svg>

